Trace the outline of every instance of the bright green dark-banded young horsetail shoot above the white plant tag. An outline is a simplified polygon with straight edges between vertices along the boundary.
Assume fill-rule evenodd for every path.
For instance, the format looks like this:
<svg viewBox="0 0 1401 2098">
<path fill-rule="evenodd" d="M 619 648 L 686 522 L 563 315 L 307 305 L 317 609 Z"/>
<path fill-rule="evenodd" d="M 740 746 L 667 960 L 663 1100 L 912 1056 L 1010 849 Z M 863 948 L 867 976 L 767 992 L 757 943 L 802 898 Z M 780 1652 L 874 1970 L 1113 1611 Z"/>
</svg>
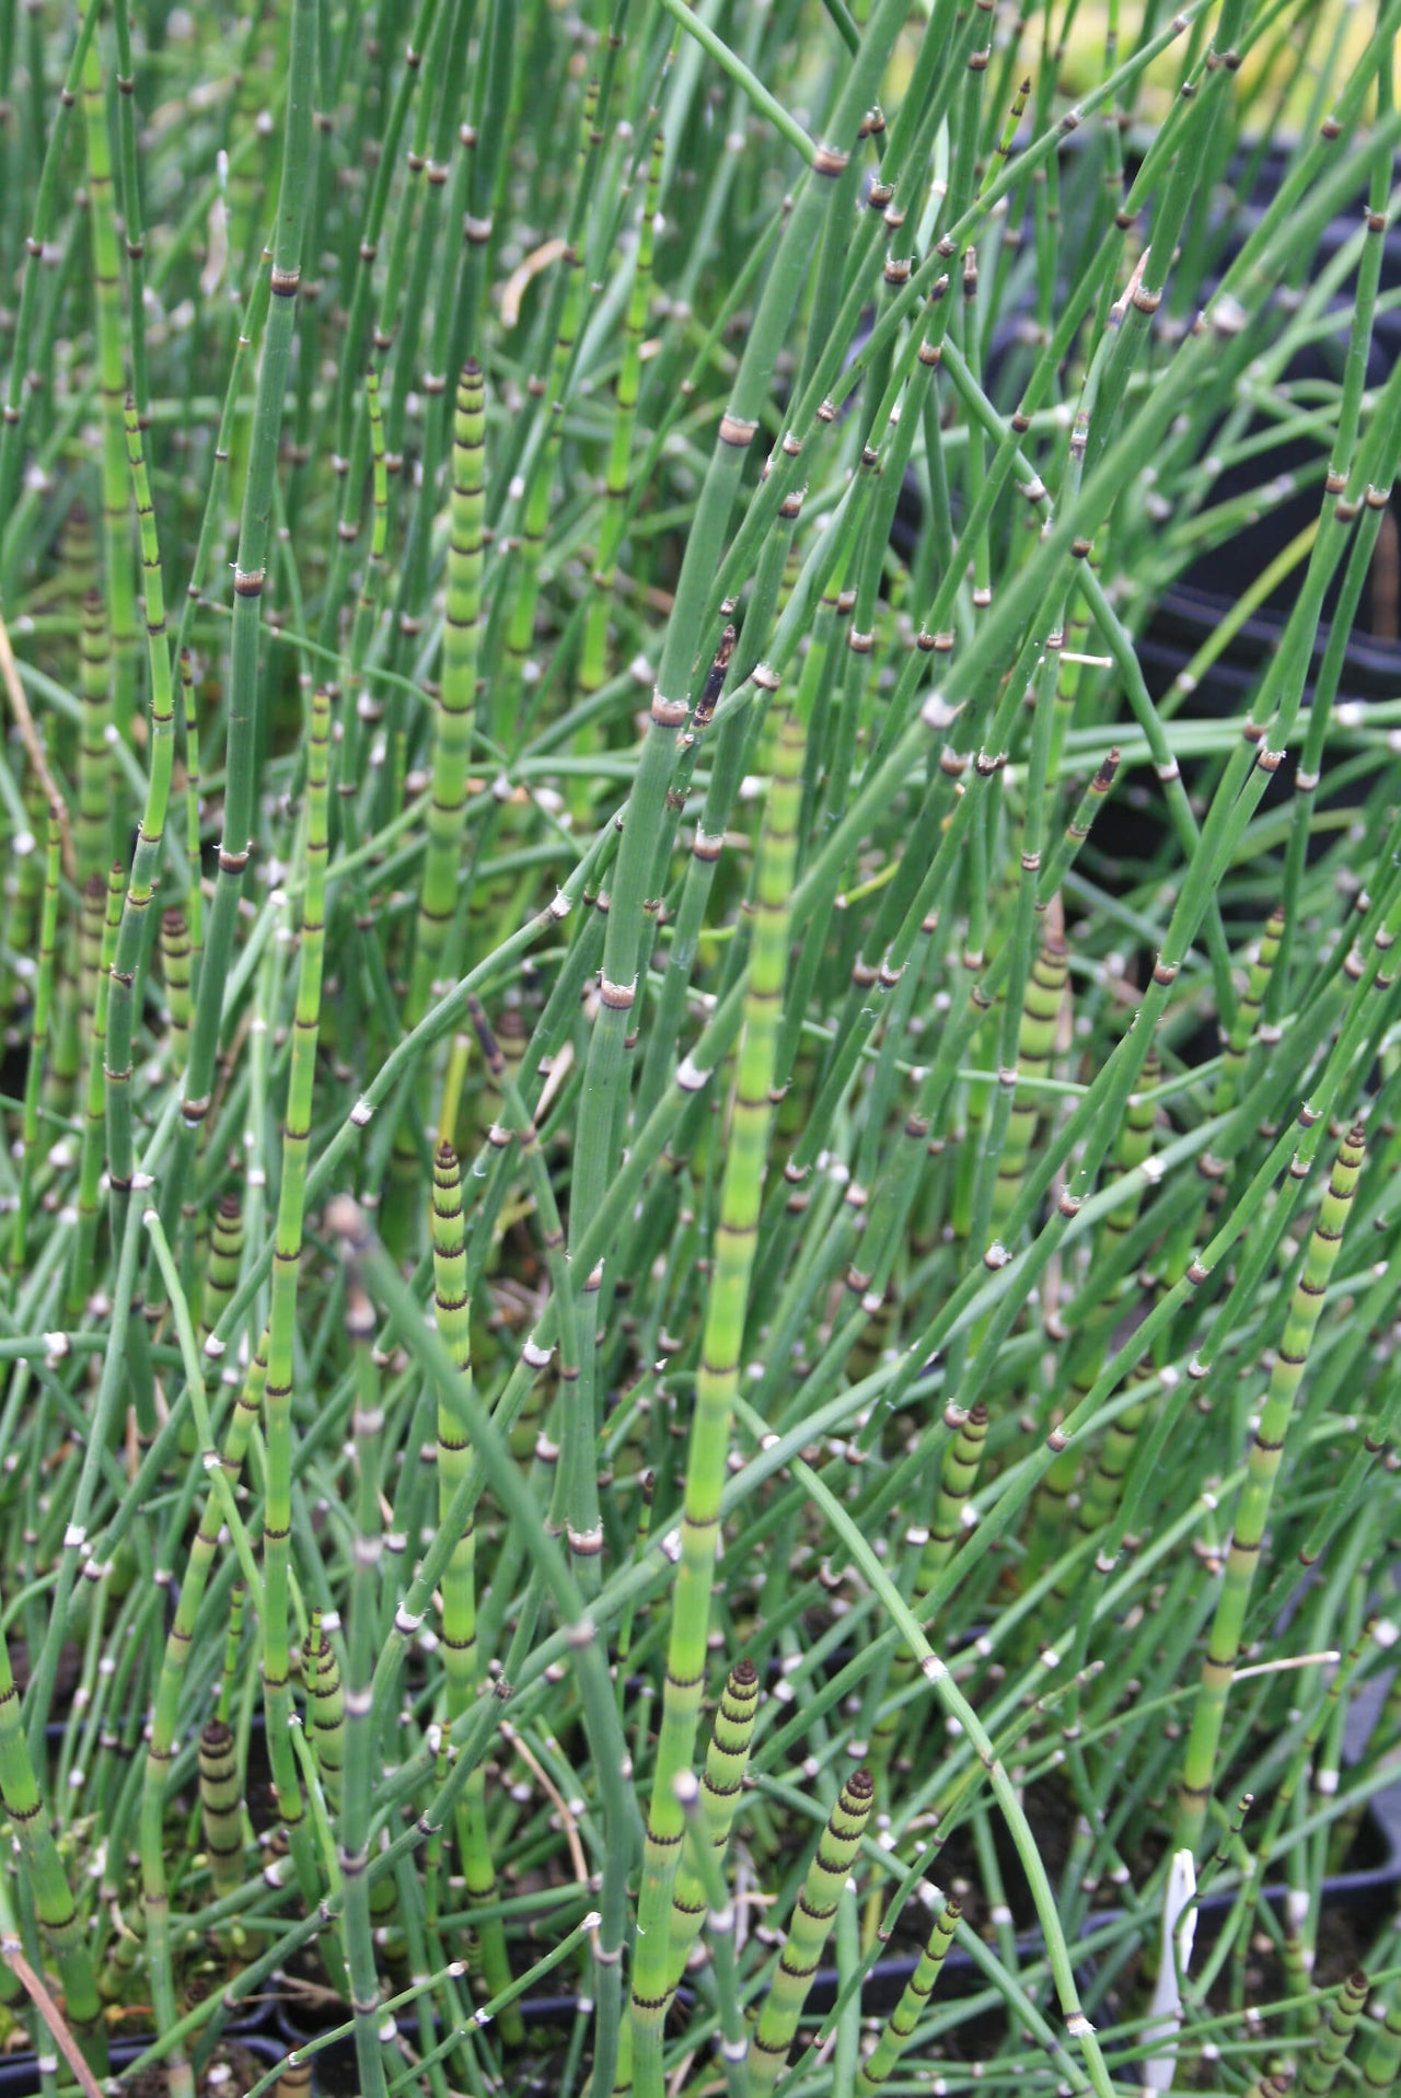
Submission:
<svg viewBox="0 0 1401 2098">
<path fill-rule="evenodd" d="M 1338 1152 L 1338 1160 L 1319 1202 L 1319 1213 L 1309 1238 L 1302 1273 L 1290 1299 L 1290 1313 L 1284 1339 L 1275 1353 L 1269 1376 L 1269 1391 L 1260 1408 L 1260 1425 L 1250 1446 L 1250 1469 L 1242 1490 L 1235 1525 L 1231 1532 L 1231 1553 L 1225 1582 L 1212 1620 L 1212 1632 L 1202 1664 L 1202 1685 L 1191 1718 L 1191 1737 L 1183 1764 L 1183 1781 L 1177 1806 L 1177 1848 L 1195 1850 L 1206 1825 L 1212 1777 L 1216 1769 L 1216 1748 L 1225 1725 L 1225 1708 L 1235 1676 L 1235 1662 L 1250 1607 L 1254 1569 L 1265 1546 L 1265 1525 L 1275 1490 L 1275 1475 L 1294 1410 L 1294 1397 L 1309 1362 L 1309 1343 L 1323 1307 L 1328 1278 L 1338 1259 L 1346 1208 L 1357 1192 L 1357 1175 L 1363 1162 L 1363 1127 L 1355 1125 Z"/>
</svg>

